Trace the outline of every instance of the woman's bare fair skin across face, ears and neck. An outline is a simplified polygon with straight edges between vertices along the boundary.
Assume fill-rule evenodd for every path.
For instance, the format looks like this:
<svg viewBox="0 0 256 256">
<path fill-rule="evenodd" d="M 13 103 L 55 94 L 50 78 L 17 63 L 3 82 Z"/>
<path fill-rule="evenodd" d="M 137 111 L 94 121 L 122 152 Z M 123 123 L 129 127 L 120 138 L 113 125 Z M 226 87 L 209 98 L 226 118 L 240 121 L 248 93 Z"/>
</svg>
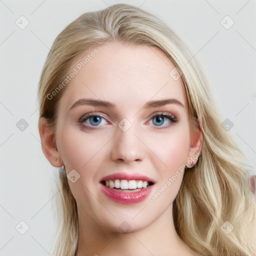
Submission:
<svg viewBox="0 0 256 256">
<path fill-rule="evenodd" d="M 200 127 L 189 124 L 183 82 L 169 75 L 174 64 L 157 47 L 111 42 L 97 49 L 98 54 L 65 88 L 57 108 L 56 132 L 45 126 L 44 118 L 39 120 L 42 149 L 49 162 L 55 167 L 64 164 L 67 174 L 74 169 L 80 175 L 74 183 L 68 179 L 79 217 L 76 255 L 191 256 L 172 218 L 172 202 L 183 177 L 180 166 L 191 159 L 188 165 L 195 164 L 202 144 Z M 70 70 L 83 59 L 80 56 Z M 81 98 L 109 101 L 115 107 L 70 109 Z M 150 100 L 169 98 L 182 105 L 144 107 Z M 100 123 L 95 125 L 89 117 L 78 123 L 94 111 Z M 164 117 L 158 125 L 152 114 L 162 112 L 172 114 L 177 122 Z M 126 131 L 118 126 L 123 118 L 131 124 Z M 100 181 L 116 172 L 140 173 L 155 180 L 150 195 L 133 204 L 108 198 L 100 190 Z M 167 182 L 173 175 L 176 178 Z M 155 196 L 158 190 L 162 193 Z M 124 221 L 126 232 L 120 228 Z"/>
</svg>

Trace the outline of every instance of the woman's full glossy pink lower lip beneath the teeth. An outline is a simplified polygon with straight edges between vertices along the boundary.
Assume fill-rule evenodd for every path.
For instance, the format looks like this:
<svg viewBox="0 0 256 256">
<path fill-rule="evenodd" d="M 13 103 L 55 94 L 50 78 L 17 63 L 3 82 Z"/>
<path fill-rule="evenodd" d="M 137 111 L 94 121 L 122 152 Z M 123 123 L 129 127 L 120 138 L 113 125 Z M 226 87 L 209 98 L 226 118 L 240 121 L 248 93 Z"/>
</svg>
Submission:
<svg viewBox="0 0 256 256">
<path fill-rule="evenodd" d="M 101 191 L 111 200 L 122 204 L 138 203 L 147 198 L 153 185 L 147 186 L 139 191 L 125 192 L 120 189 L 109 188 L 100 183 Z"/>
</svg>

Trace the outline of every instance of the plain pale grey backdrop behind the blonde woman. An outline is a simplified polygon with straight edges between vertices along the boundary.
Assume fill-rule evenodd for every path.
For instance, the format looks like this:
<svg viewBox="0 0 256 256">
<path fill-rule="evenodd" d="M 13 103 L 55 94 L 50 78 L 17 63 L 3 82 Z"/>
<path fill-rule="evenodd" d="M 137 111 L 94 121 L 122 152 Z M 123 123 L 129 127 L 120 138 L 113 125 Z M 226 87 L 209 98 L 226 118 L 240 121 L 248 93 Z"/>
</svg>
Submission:
<svg viewBox="0 0 256 256">
<path fill-rule="evenodd" d="M 208 76 L 221 119 L 233 123 L 226 132 L 256 173 L 255 0 L 0 0 L 1 256 L 49 255 L 57 168 L 42 153 L 37 130 L 40 73 L 67 24 L 115 3 L 141 6 L 187 42 Z"/>
</svg>

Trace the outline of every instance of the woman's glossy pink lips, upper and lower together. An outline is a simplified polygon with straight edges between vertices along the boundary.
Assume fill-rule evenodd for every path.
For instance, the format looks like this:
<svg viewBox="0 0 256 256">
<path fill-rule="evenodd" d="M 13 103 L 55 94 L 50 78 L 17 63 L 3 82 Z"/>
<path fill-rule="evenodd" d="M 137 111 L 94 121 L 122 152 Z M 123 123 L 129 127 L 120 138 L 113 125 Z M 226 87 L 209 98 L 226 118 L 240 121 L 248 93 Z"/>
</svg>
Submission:
<svg viewBox="0 0 256 256">
<path fill-rule="evenodd" d="M 110 180 L 110 179 L 146 180 L 148 182 L 155 183 L 155 180 L 145 175 L 141 175 L 139 173 L 125 173 L 125 172 L 113 173 L 113 174 L 104 176 L 101 179 L 101 181 Z M 122 191 L 120 189 L 110 188 L 100 183 L 101 191 L 108 198 L 122 204 L 133 204 L 133 203 L 138 203 L 145 200 L 148 197 L 149 193 L 151 192 L 152 188 L 153 188 L 153 184 L 145 188 L 141 188 L 141 190 L 139 191 L 129 192 L 129 191 Z"/>
</svg>

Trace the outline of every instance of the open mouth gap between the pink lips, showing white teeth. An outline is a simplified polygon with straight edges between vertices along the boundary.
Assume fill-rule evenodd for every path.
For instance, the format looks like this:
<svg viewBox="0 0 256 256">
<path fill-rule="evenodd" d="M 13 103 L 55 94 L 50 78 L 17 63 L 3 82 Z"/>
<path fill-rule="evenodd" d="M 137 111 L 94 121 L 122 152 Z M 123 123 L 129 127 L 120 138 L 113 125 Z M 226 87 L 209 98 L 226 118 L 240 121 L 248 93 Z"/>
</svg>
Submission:
<svg viewBox="0 0 256 256">
<path fill-rule="evenodd" d="M 146 180 L 127 180 L 127 179 L 109 179 L 109 180 L 101 180 L 101 184 L 106 187 L 113 188 L 121 191 L 140 191 L 154 183 Z"/>
</svg>

